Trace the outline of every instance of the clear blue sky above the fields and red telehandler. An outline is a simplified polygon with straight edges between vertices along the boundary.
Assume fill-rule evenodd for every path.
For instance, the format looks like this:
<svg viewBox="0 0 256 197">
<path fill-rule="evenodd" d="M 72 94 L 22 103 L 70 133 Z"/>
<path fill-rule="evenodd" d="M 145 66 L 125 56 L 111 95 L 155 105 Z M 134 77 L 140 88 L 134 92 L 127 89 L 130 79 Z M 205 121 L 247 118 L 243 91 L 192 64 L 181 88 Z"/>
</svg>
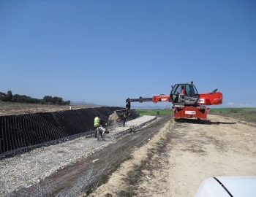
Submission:
<svg viewBox="0 0 256 197">
<path fill-rule="evenodd" d="M 256 1 L 2 0 L 0 27 L 4 93 L 122 106 L 193 80 L 256 107 Z"/>
</svg>

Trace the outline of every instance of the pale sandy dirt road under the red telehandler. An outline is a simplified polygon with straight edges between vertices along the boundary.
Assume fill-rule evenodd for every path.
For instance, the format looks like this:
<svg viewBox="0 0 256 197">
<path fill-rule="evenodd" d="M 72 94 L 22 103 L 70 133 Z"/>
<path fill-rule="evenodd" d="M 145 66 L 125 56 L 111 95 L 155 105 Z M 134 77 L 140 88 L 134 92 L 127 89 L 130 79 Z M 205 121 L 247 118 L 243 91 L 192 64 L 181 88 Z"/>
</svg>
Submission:
<svg viewBox="0 0 256 197">
<path fill-rule="evenodd" d="M 148 152 L 161 139 L 168 142 L 163 152 L 147 161 L 150 168 L 143 169 L 140 181 L 133 185 L 133 196 L 194 196 L 208 177 L 256 176 L 255 123 L 208 115 L 203 123 L 165 123 L 90 196 L 118 196 L 118 192 L 120 196 L 120 190 L 127 187 L 127 172 L 148 159 Z"/>
</svg>

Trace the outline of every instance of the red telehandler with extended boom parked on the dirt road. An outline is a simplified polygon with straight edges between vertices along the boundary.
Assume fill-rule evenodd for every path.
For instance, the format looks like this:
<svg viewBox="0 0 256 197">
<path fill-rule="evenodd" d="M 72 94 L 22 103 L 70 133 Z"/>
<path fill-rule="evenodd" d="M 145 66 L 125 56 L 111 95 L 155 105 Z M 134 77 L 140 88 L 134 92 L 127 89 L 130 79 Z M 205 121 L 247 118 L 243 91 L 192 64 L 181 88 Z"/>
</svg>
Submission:
<svg viewBox="0 0 256 197">
<path fill-rule="evenodd" d="M 184 92 L 182 93 L 182 89 Z M 217 92 L 218 89 L 211 93 L 197 93 L 193 81 L 189 83 L 178 83 L 172 86 L 170 95 L 157 95 L 151 98 L 127 99 L 126 108 L 131 108 L 131 102 L 145 102 L 152 101 L 153 103 L 167 101 L 173 103 L 173 117 L 174 120 L 179 118 L 192 118 L 197 120 L 206 120 L 209 112 L 209 107 L 205 105 L 222 104 L 222 93 Z"/>
</svg>

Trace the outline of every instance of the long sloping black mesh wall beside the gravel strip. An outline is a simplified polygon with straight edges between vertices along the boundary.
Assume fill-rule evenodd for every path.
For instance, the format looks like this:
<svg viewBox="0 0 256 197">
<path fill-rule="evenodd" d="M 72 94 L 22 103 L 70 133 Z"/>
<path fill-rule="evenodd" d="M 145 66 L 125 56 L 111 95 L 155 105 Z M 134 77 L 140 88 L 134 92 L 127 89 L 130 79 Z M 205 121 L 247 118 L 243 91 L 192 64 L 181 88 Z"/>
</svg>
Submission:
<svg viewBox="0 0 256 197">
<path fill-rule="evenodd" d="M 96 107 L 0 117 L 0 159 L 94 131 L 94 117 L 104 123 L 121 107 Z M 129 119 L 139 117 L 131 110 Z"/>
</svg>

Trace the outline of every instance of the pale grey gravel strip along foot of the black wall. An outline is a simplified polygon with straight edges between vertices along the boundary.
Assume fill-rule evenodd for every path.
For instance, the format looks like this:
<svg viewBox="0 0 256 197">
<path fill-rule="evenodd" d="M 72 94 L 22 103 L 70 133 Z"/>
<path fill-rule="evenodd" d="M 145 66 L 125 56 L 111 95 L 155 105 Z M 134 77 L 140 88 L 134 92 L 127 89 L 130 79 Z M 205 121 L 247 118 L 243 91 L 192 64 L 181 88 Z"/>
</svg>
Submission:
<svg viewBox="0 0 256 197">
<path fill-rule="evenodd" d="M 49 177 L 65 166 L 72 165 L 81 158 L 93 154 L 95 151 L 116 141 L 114 135 L 121 131 L 154 120 L 155 116 L 142 116 L 127 121 L 126 127 L 108 129 L 110 134 L 105 141 L 97 142 L 94 137 L 80 137 L 61 144 L 41 147 L 13 158 L 0 161 L 0 196 L 4 196 L 19 188 L 28 187 Z"/>
</svg>

